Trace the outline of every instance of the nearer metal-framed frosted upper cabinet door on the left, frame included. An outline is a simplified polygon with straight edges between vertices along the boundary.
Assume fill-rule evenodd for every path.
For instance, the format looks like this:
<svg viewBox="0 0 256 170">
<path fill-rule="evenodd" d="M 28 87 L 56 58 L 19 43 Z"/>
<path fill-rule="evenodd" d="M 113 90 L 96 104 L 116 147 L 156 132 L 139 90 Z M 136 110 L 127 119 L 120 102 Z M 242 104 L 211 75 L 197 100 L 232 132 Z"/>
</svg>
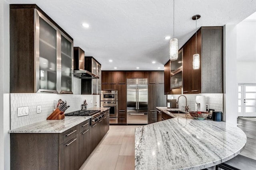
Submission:
<svg viewBox="0 0 256 170">
<path fill-rule="evenodd" d="M 58 28 L 35 10 L 36 92 L 57 92 Z"/>
</svg>

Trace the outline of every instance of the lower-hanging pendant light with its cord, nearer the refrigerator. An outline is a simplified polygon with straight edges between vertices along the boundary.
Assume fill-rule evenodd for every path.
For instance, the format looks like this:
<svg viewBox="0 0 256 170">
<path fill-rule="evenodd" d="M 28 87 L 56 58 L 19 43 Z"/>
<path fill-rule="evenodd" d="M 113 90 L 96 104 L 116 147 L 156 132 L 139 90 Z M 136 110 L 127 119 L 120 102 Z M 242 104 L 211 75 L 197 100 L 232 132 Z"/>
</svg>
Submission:
<svg viewBox="0 0 256 170">
<path fill-rule="evenodd" d="M 173 0 L 173 38 L 170 39 L 170 60 L 178 59 L 178 39 L 174 38 L 174 0 Z"/>
</svg>

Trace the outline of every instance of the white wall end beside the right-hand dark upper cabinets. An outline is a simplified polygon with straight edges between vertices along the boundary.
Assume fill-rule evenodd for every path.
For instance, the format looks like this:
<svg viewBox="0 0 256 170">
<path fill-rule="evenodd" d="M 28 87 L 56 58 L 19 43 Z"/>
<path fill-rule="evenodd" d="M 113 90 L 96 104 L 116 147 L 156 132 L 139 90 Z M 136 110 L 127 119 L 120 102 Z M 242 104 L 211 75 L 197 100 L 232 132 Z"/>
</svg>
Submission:
<svg viewBox="0 0 256 170">
<path fill-rule="evenodd" d="M 224 26 L 224 117 L 236 126 L 238 93 L 236 80 L 236 25 Z"/>
</svg>

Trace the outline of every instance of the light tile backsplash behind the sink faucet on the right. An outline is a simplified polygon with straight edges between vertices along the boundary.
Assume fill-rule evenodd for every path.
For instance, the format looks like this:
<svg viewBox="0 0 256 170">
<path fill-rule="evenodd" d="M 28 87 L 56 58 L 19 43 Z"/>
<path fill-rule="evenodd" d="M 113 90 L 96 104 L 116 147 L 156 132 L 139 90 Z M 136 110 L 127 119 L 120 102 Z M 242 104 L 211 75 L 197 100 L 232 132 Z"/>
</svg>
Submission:
<svg viewBox="0 0 256 170">
<path fill-rule="evenodd" d="M 180 95 L 168 95 L 168 99 L 178 99 Z M 195 101 L 196 96 L 205 96 L 206 104 L 209 104 L 209 109 L 214 109 L 216 111 L 223 112 L 223 94 L 221 93 L 211 93 L 211 94 L 185 94 L 187 98 L 187 103 L 189 105 L 189 111 L 195 111 Z M 182 109 L 182 106 L 186 106 L 186 100 L 184 97 L 180 97 L 179 99 L 179 109 Z"/>
</svg>

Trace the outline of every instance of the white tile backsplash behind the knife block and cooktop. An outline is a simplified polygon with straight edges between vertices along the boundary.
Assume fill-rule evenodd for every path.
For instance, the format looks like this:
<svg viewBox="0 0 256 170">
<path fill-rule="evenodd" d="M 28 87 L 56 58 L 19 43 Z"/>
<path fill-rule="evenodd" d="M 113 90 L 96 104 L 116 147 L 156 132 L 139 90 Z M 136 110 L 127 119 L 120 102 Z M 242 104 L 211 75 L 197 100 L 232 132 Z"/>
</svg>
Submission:
<svg viewBox="0 0 256 170">
<path fill-rule="evenodd" d="M 77 78 L 76 78 L 77 79 Z M 79 79 L 77 80 L 79 81 Z M 81 80 L 80 80 L 81 81 Z M 79 87 L 80 89 L 81 87 Z M 81 90 L 81 89 L 80 89 Z M 71 94 L 10 94 L 10 111 L 11 111 L 11 129 L 37 123 L 46 120 L 54 109 L 54 100 L 66 100 L 70 106 L 66 113 L 81 109 L 81 104 L 84 100 L 88 101 L 88 108 L 92 107 L 90 100 L 93 100 L 92 95 L 71 95 Z M 41 113 L 36 113 L 37 105 L 41 105 Z M 18 107 L 28 106 L 29 115 L 18 117 Z"/>
</svg>

